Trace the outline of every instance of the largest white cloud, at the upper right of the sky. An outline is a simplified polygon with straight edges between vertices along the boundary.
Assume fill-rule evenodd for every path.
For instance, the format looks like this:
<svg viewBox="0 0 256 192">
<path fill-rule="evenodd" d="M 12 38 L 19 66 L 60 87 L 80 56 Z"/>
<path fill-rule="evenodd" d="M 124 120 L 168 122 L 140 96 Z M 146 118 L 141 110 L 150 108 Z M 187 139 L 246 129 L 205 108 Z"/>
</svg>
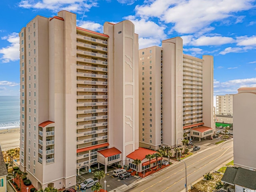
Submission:
<svg viewBox="0 0 256 192">
<path fill-rule="evenodd" d="M 234 18 L 234 23 L 243 17 L 233 15 L 252 8 L 254 0 L 148 0 L 136 6 L 136 14 L 142 18 L 157 17 L 166 23 L 173 23 L 179 33 L 194 33 L 213 30 L 213 22 Z"/>
</svg>

